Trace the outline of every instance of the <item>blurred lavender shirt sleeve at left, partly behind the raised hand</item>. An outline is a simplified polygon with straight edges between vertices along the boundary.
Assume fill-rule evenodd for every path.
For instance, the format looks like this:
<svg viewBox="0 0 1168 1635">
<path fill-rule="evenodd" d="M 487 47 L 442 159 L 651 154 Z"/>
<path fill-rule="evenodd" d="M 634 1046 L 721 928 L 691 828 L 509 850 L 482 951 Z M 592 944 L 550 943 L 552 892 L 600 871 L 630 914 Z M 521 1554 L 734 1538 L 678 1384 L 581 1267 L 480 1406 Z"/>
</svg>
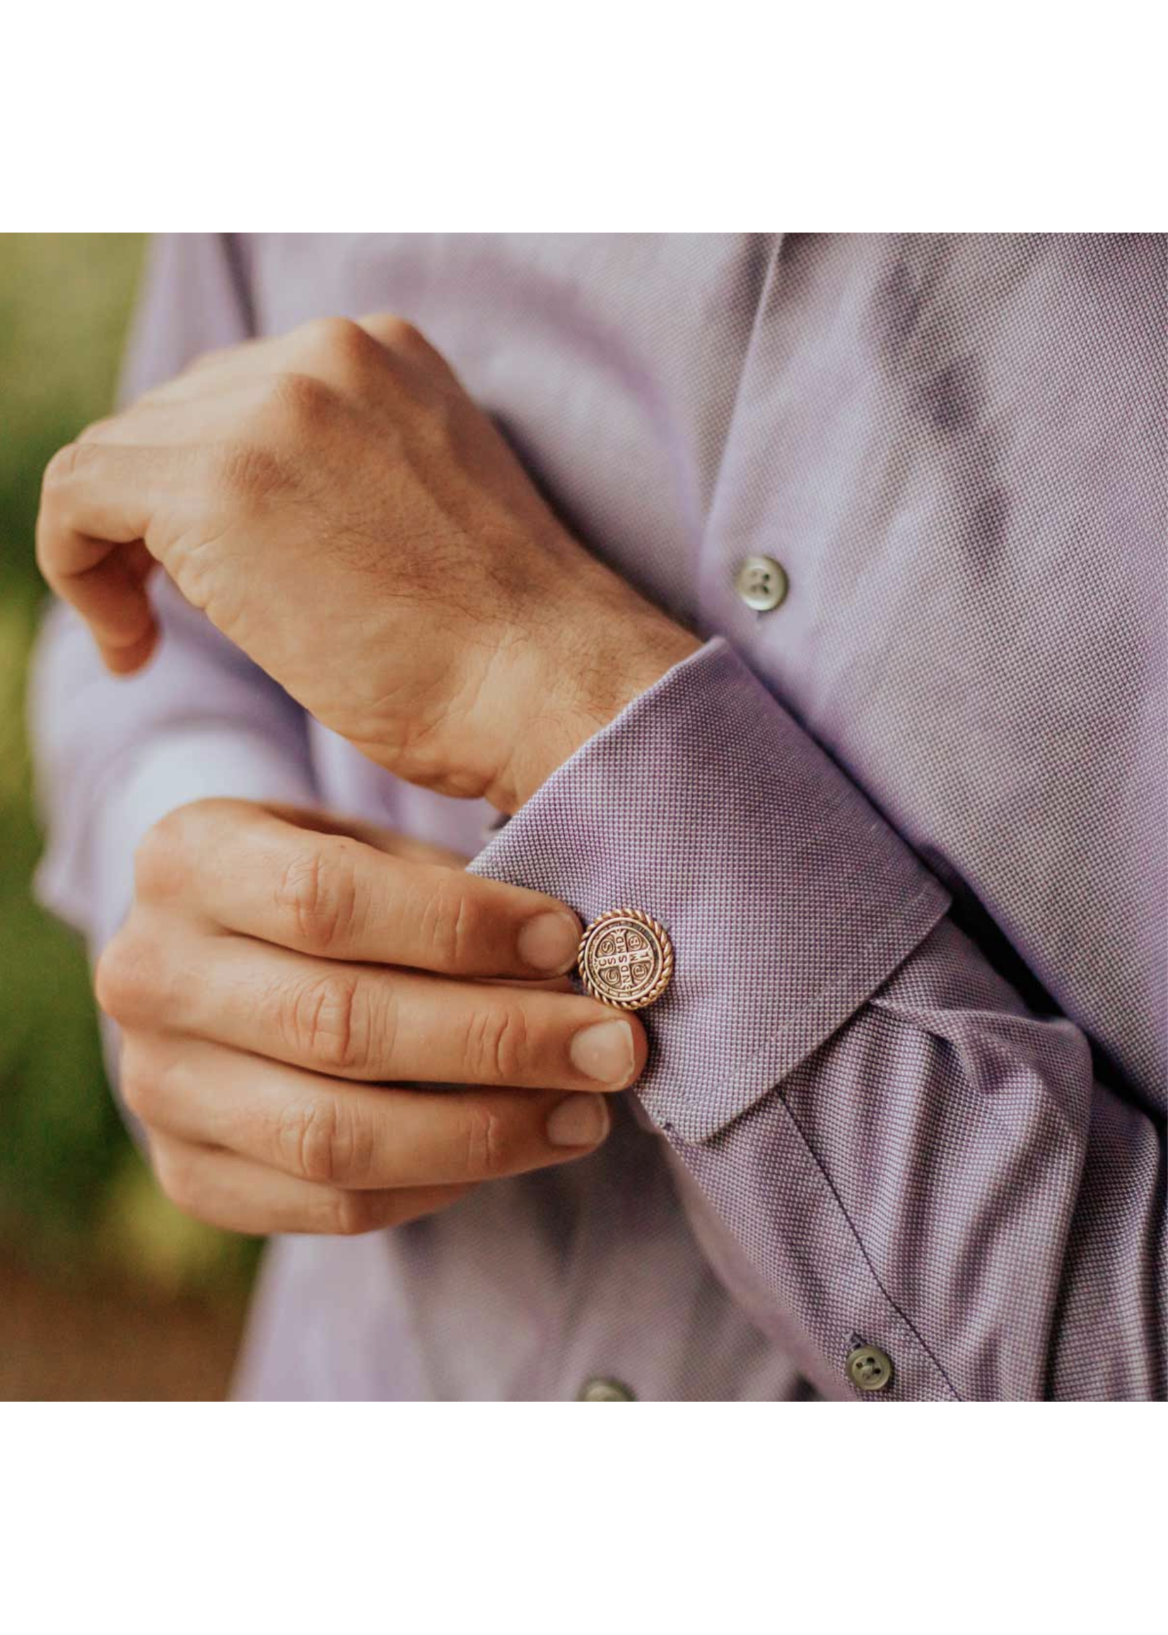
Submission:
<svg viewBox="0 0 1168 1635">
<path fill-rule="evenodd" d="M 250 330 L 229 234 L 162 234 L 123 374 L 123 397 Z M 312 801 L 304 716 L 191 610 L 164 574 L 152 595 L 164 639 L 134 677 L 111 677 L 80 618 L 49 608 L 29 711 L 47 844 L 36 889 L 97 955 L 126 914 L 133 853 L 167 811 L 203 796 Z"/>
</svg>

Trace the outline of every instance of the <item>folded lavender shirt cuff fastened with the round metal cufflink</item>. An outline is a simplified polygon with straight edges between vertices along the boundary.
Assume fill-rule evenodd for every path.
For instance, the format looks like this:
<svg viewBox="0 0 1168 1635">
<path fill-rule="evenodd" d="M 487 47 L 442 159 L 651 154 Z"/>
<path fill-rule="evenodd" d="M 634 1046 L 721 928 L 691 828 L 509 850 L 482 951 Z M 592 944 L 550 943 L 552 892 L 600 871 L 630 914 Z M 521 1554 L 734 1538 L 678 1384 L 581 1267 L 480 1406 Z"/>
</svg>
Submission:
<svg viewBox="0 0 1168 1635">
<path fill-rule="evenodd" d="M 661 921 L 674 976 L 636 1086 L 707 1141 L 841 1027 L 949 896 L 721 638 L 674 665 L 537 791 L 473 873 L 587 924 Z"/>
</svg>

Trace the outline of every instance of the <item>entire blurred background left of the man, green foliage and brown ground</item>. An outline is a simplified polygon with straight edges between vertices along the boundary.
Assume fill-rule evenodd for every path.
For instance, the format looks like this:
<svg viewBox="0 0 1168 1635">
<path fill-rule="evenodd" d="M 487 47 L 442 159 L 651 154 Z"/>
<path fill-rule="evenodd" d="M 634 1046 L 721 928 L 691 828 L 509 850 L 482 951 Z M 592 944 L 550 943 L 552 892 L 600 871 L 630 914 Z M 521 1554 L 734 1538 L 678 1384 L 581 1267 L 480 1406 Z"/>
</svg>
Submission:
<svg viewBox="0 0 1168 1635">
<path fill-rule="evenodd" d="M 101 1068 L 80 940 L 31 898 L 25 677 L 49 456 L 108 412 L 139 232 L 0 232 L 0 1400 L 221 1398 L 255 1246 L 173 1210 Z"/>
</svg>

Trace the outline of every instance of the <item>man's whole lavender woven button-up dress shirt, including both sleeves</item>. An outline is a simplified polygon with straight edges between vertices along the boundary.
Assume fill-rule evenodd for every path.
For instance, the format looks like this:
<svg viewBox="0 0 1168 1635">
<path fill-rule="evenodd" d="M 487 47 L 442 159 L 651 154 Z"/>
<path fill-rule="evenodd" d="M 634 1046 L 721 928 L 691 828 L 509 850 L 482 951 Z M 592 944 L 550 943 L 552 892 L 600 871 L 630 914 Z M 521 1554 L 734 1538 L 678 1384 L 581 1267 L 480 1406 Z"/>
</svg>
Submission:
<svg viewBox="0 0 1168 1635">
<path fill-rule="evenodd" d="M 1165 271 L 1155 234 L 155 244 L 129 391 L 401 312 L 710 638 L 487 835 L 165 587 L 131 682 L 52 611 L 39 881 L 95 950 L 137 837 L 219 793 L 429 835 L 584 919 L 635 904 L 677 953 L 597 1154 L 273 1241 L 240 1398 L 1163 1396 Z M 766 613 L 756 554 L 790 579 Z"/>
</svg>

